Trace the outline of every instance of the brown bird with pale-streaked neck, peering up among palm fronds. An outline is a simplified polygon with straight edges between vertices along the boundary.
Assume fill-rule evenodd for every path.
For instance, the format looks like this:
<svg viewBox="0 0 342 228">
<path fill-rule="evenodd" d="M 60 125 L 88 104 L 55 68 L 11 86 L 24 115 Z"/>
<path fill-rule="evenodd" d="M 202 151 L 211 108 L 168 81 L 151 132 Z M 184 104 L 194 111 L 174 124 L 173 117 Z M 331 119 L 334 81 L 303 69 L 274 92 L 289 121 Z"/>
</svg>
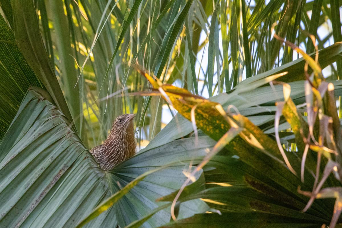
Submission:
<svg viewBox="0 0 342 228">
<path fill-rule="evenodd" d="M 90 150 L 98 165 L 104 170 L 112 169 L 118 163 L 135 155 L 134 114 L 118 116 L 103 144 Z"/>
</svg>

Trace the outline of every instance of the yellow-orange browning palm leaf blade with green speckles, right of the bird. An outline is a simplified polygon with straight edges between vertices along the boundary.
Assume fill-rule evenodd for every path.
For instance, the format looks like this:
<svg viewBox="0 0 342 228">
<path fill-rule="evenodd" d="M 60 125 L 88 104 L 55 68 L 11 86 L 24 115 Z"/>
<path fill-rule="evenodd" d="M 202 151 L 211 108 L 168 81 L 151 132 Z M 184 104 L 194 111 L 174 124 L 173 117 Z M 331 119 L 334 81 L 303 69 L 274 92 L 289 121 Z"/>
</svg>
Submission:
<svg viewBox="0 0 342 228">
<path fill-rule="evenodd" d="M 162 85 L 161 88 L 165 92 L 162 97 L 166 99 L 172 106 L 189 121 L 193 119 L 193 125 L 201 129 L 203 133 L 209 135 L 214 140 L 219 140 L 232 126 L 244 128 L 237 137 L 225 147 L 233 154 L 238 155 L 241 160 L 250 162 L 252 157 L 257 158 L 257 151 L 277 160 L 278 169 L 285 168 L 286 165 L 280 154 L 276 142 L 262 132 L 257 126 L 251 123 L 248 118 L 242 115 L 227 114 L 219 103 L 209 101 L 203 97 L 192 95 L 184 89 L 171 85 Z M 194 114 L 191 115 L 192 109 Z M 248 144 L 246 144 L 248 142 Z M 255 150 L 257 148 L 257 150 Z M 255 154 L 254 154 L 255 153 Z M 294 161 L 295 156 L 289 153 L 291 160 Z M 296 161 L 299 169 L 299 161 Z M 257 167 L 258 164 L 252 164 Z M 295 178 L 288 173 L 287 178 Z"/>
</svg>

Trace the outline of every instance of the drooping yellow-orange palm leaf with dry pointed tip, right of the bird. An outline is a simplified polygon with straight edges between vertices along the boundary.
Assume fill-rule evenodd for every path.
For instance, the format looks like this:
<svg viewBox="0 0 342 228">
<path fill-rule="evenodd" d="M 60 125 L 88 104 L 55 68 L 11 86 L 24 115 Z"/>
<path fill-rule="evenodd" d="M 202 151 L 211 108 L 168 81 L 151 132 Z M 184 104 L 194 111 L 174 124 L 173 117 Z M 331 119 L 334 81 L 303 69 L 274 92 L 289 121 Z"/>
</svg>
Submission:
<svg viewBox="0 0 342 228">
<path fill-rule="evenodd" d="M 146 74 L 145 76 L 149 80 L 153 80 L 152 77 Z M 156 83 L 154 83 L 154 85 L 156 85 Z M 191 95 L 186 90 L 175 86 L 158 85 L 158 88 L 156 89 L 161 91 L 163 98 L 168 102 L 171 102 L 173 107 L 186 119 L 193 119 L 193 117 L 190 116 L 190 110 L 194 109 L 194 119 L 196 121 L 197 128 L 201 129 L 205 134 L 215 140 L 219 140 L 231 126 L 240 126 L 241 128 L 244 128 L 244 130 L 240 132 L 239 136 L 235 137 L 226 145 L 226 148 L 231 152 L 231 155 L 238 155 L 242 161 L 248 163 L 255 169 L 262 169 L 262 167 L 268 166 L 269 174 L 267 176 L 269 178 L 273 179 L 280 185 L 287 186 L 289 191 L 297 192 L 297 187 L 290 183 L 299 184 L 298 179 L 287 172 L 288 170 L 285 168 L 285 163 L 283 162 L 283 158 L 280 155 L 276 142 L 265 135 L 246 117 L 239 114 L 226 116 L 226 112 L 220 104 Z M 262 159 L 261 157 L 264 156 L 265 158 Z M 289 160 L 294 163 L 294 169 L 299 172 L 300 163 L 298 158 L 292 153 L 289 153 L 287 156 L 289 156 Z M 266 158 L 271 160 L 274 159 L 274 161 L 277 162 L 272 162 L 271 165 L 270 162 L 265 162 Z M 256 162 L 257 160 L 258 162 Z M 271 173 L 273 169 L 274 172 L 278 172 L 281 169 L 283 171 L 283 177 L 286 175 L 286 180 L 283 179 L 283 177 L 272 175 Z"/>
</svg>

